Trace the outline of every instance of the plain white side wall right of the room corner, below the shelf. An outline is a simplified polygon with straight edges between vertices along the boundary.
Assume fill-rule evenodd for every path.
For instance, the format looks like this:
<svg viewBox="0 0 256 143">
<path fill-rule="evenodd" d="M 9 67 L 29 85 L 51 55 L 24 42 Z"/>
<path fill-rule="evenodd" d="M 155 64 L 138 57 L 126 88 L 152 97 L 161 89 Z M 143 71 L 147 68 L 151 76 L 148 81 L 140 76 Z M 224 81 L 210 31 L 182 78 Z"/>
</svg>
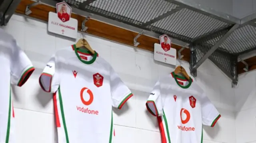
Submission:
<svg viewBox="0 0 256 143">
<path fill-rule="evenodd" d="M 236 143 L 256 143 L 256 71 L 239 76 L 235 105 Z"/>
</svg>

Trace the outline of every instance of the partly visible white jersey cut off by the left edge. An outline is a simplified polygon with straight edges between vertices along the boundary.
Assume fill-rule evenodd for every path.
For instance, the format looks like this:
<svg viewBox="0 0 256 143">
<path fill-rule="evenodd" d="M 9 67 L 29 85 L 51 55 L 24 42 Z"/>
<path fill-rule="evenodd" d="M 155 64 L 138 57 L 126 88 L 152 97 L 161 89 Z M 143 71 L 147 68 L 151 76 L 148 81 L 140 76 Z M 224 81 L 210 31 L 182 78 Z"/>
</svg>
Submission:
<svg viewBox="0 0 256 143">
<path fill-rule="evenodd" d="M 14 143 L 14 110 L 10 84 L 22 86 L 34 71 L 15 39 L 0 28 L 0 143 Z"/>
</svg>

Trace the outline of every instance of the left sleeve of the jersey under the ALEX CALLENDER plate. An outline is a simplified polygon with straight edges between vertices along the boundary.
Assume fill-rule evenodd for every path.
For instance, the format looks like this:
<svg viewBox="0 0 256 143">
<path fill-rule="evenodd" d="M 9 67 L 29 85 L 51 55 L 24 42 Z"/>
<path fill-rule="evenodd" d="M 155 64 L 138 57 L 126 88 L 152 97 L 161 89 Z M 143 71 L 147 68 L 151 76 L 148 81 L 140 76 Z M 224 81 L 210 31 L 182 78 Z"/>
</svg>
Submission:
<svg viewBox="0 0 256 143">
<path fill-rule="evenodd" d="M 58 66 L 56 56 L 52 56 L 39 77 L 39 84 L 45 92 L 56 92 L 59 88 Z"/>
</svg>

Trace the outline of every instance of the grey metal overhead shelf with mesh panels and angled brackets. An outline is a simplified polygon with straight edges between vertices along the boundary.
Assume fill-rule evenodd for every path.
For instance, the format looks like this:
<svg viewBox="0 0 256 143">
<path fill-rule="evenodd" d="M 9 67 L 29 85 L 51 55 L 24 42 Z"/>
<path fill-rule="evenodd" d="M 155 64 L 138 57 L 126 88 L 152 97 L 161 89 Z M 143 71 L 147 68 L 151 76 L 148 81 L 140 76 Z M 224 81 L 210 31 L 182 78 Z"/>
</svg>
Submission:
<svg viewBox="0 0 256 143">
<path fill-rule="evenodd" d="M 174 41 L 189 44 L 193 76 L 198 67 L 210 59 L 232 80 L 232 86 L 238 82 L 239 55 L 256 49 L 256 14 L 239 19 L 187 0 L 44 1 L 65 1 L 82 12 L 145 30 L 145 35 L 166 33 Z"/>
</svg>

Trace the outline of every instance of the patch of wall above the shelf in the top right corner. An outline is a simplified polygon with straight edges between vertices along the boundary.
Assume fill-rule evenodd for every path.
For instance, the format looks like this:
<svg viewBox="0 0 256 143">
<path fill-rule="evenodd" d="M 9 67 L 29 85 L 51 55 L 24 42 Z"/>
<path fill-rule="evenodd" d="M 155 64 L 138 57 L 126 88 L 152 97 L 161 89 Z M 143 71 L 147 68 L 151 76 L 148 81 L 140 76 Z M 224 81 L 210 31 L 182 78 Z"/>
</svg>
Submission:
<svg viewBox="0 0 256 143">
<path fill-rule="evenodd" d="M 244 18 L 256 12 L 256 0 L 233 0 L 233 16 Z"/>
</svg>

